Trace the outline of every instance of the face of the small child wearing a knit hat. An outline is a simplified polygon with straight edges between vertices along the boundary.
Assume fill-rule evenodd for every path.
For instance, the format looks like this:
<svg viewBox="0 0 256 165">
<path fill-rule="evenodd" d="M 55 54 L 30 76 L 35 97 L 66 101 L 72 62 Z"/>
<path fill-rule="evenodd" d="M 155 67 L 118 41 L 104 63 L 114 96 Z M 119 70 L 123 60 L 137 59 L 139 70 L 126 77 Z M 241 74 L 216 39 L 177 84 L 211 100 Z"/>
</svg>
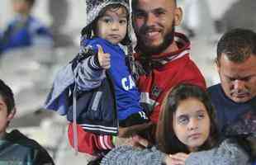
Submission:
<svg viewBox="0 0 256 165">
<path fill-rule="evenodd" d="M 116 45 L 126 36 L 127 12 L 125 7 L 108 9 L 97 21 L 97 36 Z"/>
</svg>

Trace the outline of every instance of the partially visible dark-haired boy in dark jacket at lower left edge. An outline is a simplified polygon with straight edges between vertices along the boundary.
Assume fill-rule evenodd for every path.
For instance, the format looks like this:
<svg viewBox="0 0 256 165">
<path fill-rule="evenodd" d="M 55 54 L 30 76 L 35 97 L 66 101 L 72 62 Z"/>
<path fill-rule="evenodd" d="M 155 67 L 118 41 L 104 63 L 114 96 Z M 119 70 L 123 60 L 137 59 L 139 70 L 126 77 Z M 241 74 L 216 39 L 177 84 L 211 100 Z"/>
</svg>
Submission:
<svg viewBox="0 0 256 165">
<path fill-rule="evenodd" d="M 16 113 L 12 89 L 0 79 L 0 164 L 53 165 L 45 148 L 18 130 L 7 133 Z"/>
</svg>

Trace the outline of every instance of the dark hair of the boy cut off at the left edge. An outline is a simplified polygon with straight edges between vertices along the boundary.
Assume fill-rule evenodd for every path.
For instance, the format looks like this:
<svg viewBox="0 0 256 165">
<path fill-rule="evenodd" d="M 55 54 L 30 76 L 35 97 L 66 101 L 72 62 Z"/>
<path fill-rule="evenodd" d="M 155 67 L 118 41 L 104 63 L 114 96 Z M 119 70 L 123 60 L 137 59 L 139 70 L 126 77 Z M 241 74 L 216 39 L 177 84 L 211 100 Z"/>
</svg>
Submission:
<svg viewBox="0 0 256 165">
<path fill-rule="evenodd" d="M 7 113 L 11 113 L 15 106 L 14 96 L 12 89 L 7 86 L 5 82 L 0 79 L 0 96 L 2 101 L 7 105 Z"/>
</svg>

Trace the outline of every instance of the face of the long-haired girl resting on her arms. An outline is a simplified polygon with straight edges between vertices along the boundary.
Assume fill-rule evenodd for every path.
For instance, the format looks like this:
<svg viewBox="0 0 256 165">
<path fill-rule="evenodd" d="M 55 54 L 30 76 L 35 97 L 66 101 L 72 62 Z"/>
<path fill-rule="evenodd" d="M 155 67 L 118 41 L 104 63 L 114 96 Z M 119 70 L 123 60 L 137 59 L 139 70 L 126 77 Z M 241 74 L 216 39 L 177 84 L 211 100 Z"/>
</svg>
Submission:
<svg viewBox="0 0 256 165">
<path fill-rule="evenodd" d="M 205 143 L 210 134 L 210 122 L 206 106 L 197 98 L 180 101 L 173 114 L 174 133 L 191 152 Z"/>
</svg>

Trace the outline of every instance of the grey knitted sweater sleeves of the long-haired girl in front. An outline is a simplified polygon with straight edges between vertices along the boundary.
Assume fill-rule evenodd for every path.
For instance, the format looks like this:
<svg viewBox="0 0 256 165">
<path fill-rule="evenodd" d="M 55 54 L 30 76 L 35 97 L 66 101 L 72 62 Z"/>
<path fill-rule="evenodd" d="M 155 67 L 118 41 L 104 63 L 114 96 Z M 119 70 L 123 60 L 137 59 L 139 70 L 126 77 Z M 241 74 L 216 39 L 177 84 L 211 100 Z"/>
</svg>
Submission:
<svg viewBox="0 0 256 165">
<path fill-rule="evenodd" d="M 112 149 L 101 165 L 164 165 L 165 153 L 156 148 L 139 149 L 121 146 Z M 249 165 L 249 156 L 238 144 L 230 139 L 223 141 L 218 147 L 207 151 L 191 153 L 186 165 Z"/>
</svg>

